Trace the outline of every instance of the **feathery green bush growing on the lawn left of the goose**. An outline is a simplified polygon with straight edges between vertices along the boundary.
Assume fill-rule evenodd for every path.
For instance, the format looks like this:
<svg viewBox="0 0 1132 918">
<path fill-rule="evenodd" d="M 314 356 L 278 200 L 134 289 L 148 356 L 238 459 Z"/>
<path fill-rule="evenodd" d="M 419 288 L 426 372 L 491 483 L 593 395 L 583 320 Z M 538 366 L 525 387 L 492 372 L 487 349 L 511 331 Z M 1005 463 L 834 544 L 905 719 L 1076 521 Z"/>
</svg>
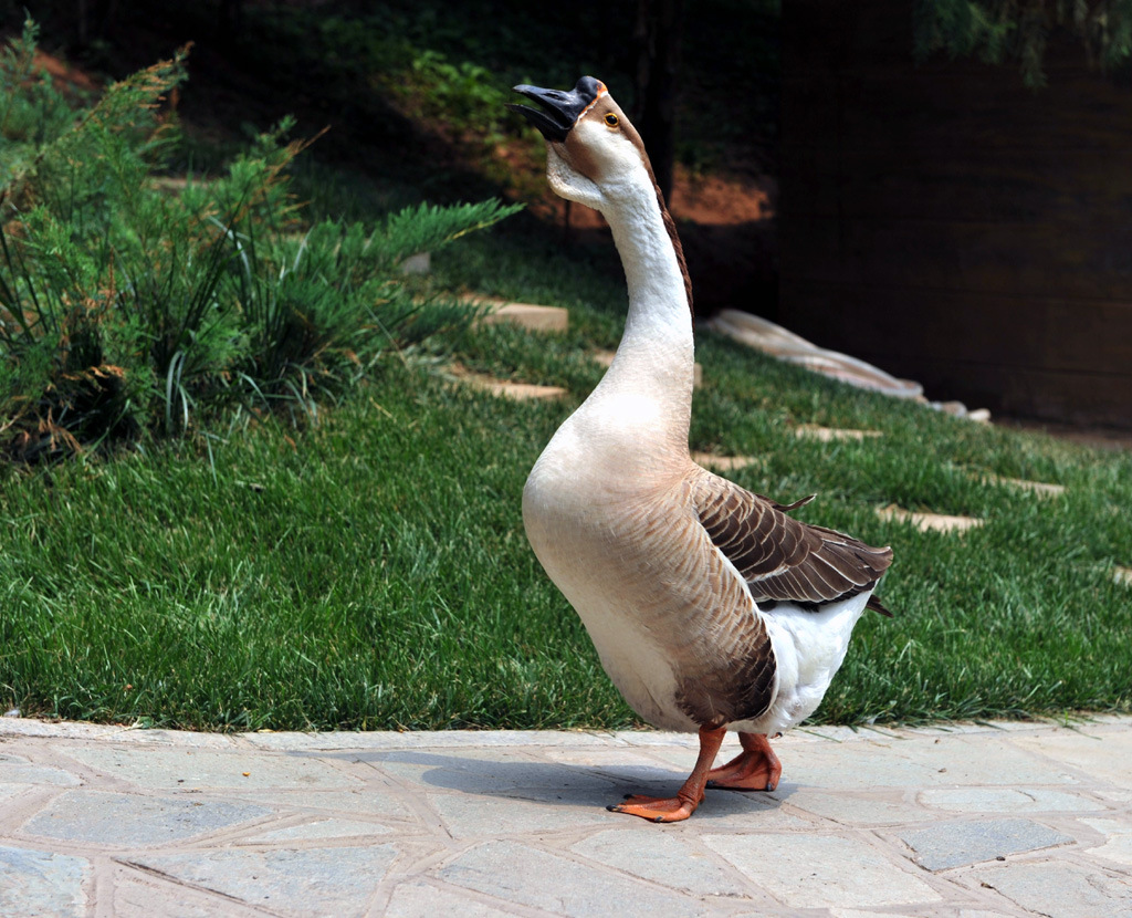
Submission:
<svg viewBox="0 0 1132 918">
<path fill-rule="evenodd" d="M 187 49 L 72 109 L 35 72 L 35 37 L 28 23 L 0 53 L 0 435 L 17 458 L 309 407 L 455 316 L 413 302 L 406 256 L 517 209 L 307 226 L 290 120 L 221 177 L 162 178 Z"/>
</svg>

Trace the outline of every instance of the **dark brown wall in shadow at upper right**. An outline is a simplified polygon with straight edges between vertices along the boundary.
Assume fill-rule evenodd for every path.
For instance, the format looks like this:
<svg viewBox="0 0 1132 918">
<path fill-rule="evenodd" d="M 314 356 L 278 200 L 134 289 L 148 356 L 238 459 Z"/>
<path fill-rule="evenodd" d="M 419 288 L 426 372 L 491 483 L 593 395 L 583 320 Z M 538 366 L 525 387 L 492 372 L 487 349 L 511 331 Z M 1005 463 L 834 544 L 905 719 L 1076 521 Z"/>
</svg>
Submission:
<svg viewBox="0 0 1132 918">
<path fill-rule="evenodd" d="M 911 59 L 910 3 L 789 0 L 779 318 L 1021 417 L 1132 428 L 1132 85 L 1054 40 Z"/>
</svg>

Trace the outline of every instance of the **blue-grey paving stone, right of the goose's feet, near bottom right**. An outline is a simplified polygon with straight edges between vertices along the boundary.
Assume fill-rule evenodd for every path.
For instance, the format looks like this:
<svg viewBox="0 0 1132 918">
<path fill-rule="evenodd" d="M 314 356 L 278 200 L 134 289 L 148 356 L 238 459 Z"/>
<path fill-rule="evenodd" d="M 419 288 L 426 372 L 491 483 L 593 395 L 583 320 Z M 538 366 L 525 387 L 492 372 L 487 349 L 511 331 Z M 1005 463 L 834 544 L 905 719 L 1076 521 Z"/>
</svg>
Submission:
<svg viewBox="0 0 1132 918">
<path fill-rule="evenodd" d="M 984 860 L 1037 851 L 1073 839 L 1031 820 L 986 820 L 937 823 L 898 833 L 927 870 L 946 870 Z"/>
</svg>

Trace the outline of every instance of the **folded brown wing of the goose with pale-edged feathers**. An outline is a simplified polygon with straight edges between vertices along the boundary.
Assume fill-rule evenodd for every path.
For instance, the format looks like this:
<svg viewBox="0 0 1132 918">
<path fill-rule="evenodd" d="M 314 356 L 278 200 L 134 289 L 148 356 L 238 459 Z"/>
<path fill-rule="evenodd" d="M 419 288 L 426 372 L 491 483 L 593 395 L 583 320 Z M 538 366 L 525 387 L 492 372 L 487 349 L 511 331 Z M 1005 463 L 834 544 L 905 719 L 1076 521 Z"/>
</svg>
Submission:
<svg viewBox="0 0 1132 918">
<path fill-rule="evenodd" d="M 892 563 L 892 550 L 786 515 L 813 498 L 782 505 L 703 472 L 693 486 L 700 522 L 712 543 L 747 582 L 755 602 L 804 608 L 871 590 Z M 869 598 L 867 608 L 891 615 Z"/>
</svg>

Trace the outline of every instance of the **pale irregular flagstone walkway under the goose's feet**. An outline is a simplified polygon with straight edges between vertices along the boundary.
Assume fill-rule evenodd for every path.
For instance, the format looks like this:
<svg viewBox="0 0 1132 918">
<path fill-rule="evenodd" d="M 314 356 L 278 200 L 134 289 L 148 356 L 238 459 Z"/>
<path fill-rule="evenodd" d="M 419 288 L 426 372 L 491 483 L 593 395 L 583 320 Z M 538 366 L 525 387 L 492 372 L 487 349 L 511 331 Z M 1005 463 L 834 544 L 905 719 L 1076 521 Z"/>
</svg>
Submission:
<svg viewBox="0 0 1132 918">
<path fill-rule="evenodd" d="M 0 719 L 0 915 L 1132 916 L 1132 718 L 777 747 L 662 826 L 691 737 Z"/>
</svg>

